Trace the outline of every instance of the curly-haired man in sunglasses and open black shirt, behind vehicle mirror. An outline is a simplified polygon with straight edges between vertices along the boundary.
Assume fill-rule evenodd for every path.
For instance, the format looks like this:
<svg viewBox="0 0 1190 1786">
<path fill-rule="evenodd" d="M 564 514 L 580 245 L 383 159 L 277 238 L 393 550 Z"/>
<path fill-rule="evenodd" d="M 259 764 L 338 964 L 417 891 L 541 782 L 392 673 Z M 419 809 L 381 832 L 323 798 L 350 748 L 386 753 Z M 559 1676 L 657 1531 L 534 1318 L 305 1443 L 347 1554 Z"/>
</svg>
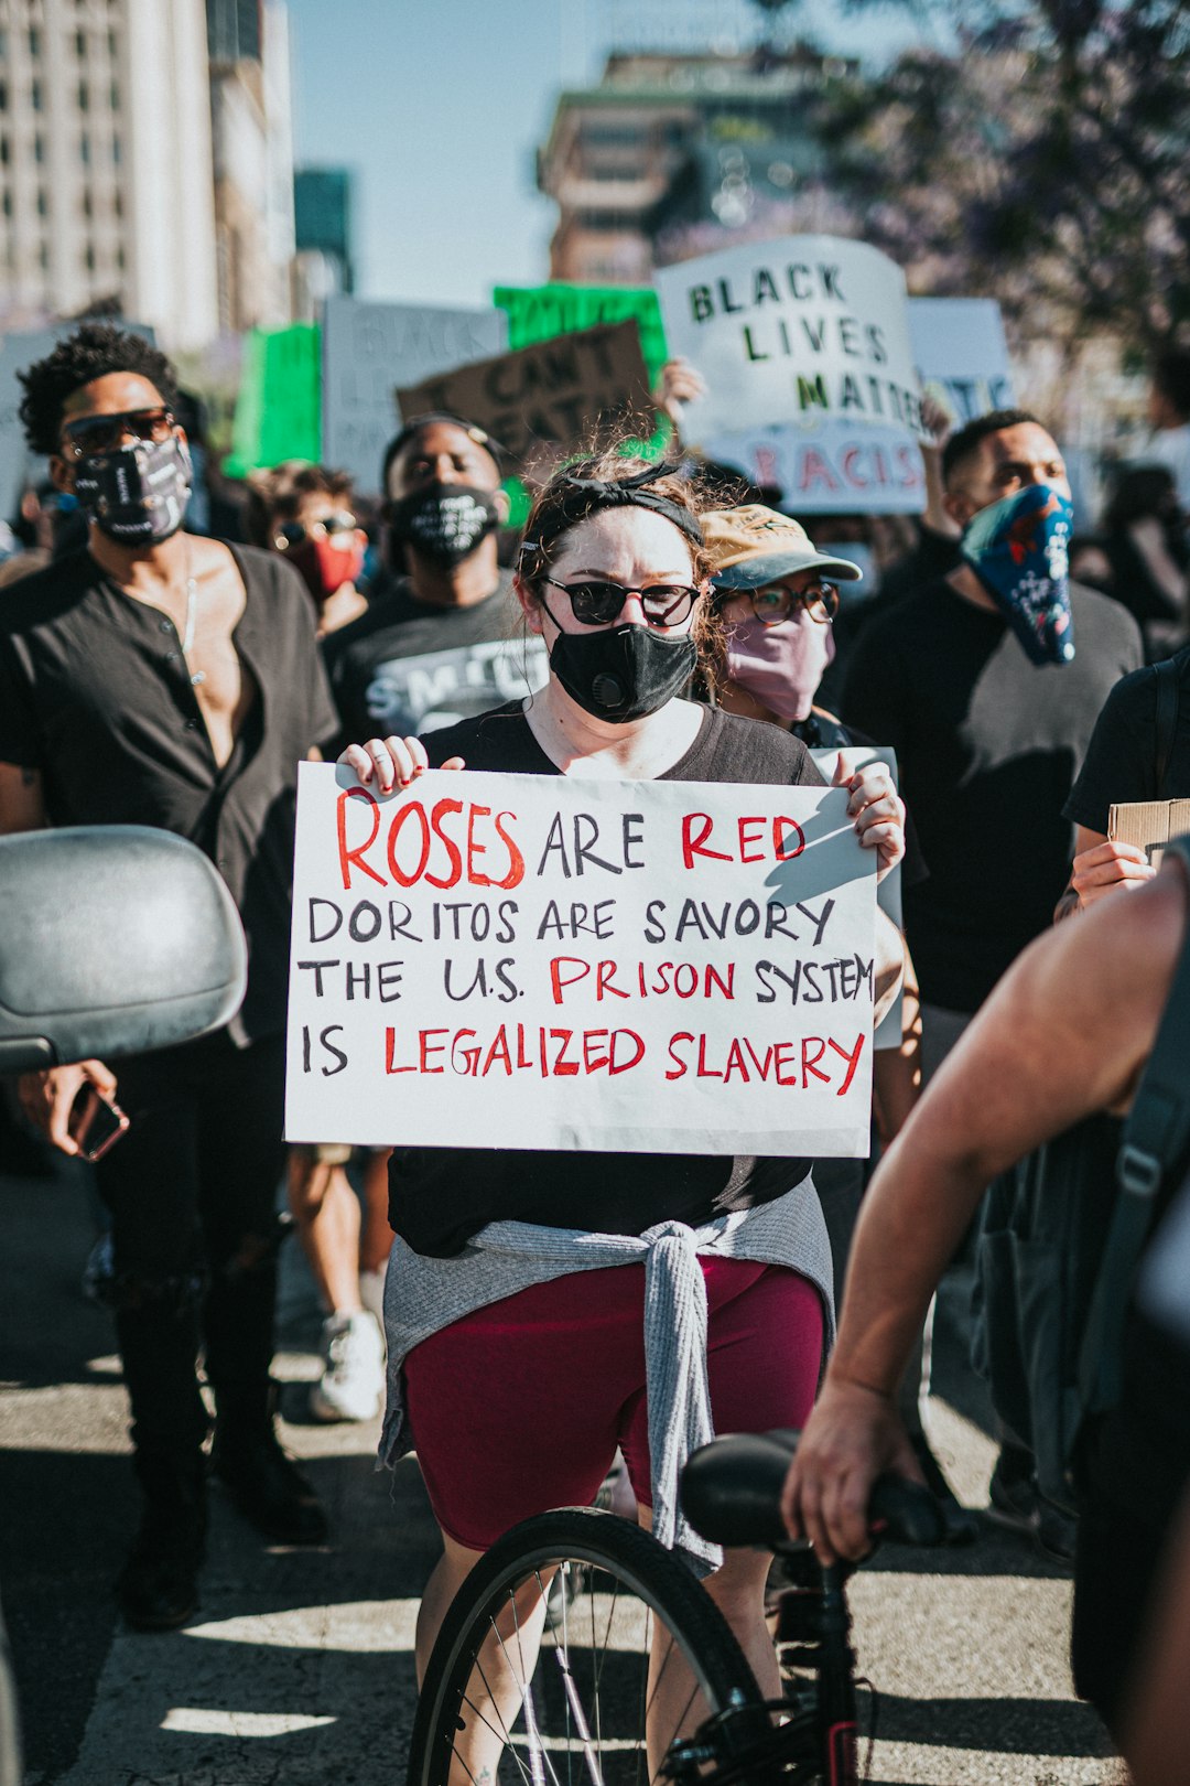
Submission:
<svg viewBox="0 0 1190 1786">
<path fill-rule="evenodd" d="M 216 1475 L 273 1543 L 326 1536 L 277 1440 L 269 1361 L 296 764 L 319 755 L 335 714 L 300 579 L 277 554 L 184 530 L 191 468 L 168 359 L 87 323 L 21 382 L 29 445 L 79 498 L 87 543 L 4 602 L 0 832 L 173 830 L 216 863 L 248 934 L 227 1029 L 116 1072 L 84 1061 L 20 1084 L 64 1154 L 79 1154 L 70 1118 L 87 1084 L 130 1118 L 96 1164 L 145 1497 L 118 1597 L 130 1625 L 166 1631 L 194 1611 L 205 1541 L 200 1343 Z"/>
</svg>

